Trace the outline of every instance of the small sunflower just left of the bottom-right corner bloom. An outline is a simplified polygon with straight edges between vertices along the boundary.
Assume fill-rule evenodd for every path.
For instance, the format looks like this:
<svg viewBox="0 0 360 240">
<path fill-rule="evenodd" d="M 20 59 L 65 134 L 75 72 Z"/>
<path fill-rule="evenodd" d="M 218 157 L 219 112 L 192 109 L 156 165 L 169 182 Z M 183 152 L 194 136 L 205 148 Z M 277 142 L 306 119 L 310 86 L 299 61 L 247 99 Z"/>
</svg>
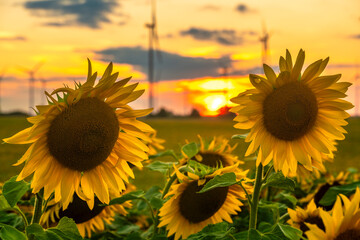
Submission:
<svg viewBox="0 0 360 240">
<path fill-rule="evenodd" d="M 288 223 L 302 232 L 309 230 L 305 223 L 316 224 L 320 229 L 324 230 L 324 223 L 319 215 L 319 209 L 316 207 L 314 200 L 307 205 L 306 209 L 296 207 L 293 210 L 288 208 L 290 216 Z"/>
</svg>

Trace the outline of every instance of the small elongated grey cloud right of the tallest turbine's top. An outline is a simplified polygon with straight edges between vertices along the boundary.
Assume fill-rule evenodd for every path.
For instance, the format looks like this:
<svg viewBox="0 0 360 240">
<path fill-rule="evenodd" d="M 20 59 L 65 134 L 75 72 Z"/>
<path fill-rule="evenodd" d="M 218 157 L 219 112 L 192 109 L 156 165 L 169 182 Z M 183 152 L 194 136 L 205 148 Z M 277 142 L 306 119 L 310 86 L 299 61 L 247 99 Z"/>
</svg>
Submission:
<svg viewBox="0 0 360 240">
<path fill-rule="evenodd" d="M 215 41 L 222 45 L 241 45 L 244 41 L 242 36 L 234 30 L 207 30 L 204 28 L 192 27 L 180 32 L 182 36 L 191 36 L 197 40 Z"/>
</svg>

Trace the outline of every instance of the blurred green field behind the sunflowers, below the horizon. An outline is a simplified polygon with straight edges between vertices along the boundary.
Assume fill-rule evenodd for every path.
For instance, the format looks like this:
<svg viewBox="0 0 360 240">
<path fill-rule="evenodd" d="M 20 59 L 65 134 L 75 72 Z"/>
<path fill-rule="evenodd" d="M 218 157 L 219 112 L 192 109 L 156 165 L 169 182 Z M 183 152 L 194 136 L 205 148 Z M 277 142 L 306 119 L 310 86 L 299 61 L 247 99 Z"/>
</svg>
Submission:
<svg viewBox="0 0 360 240">
<path fill-rule="evenodd" d="M 230 139 L 237 134 L 233 128 L 232 119 L 200 118 L 200 119 L 178 119 L 178 118 L 145 118 L 142 119 L 158 131 L 158 137 L 165 139 L 165 149 L 173 149 L 180 153 L 180 148 L 185 144 L 185 139 L 198 141 L 197 134 L 209 140 L 214 136 L 223 136 Z M 339 172 L 350 167 L 360 169 L 360 118 L 348 119 L 349 124 L 345 127 L 348 131 L 346 139 L 338 144 L 334 163 L 327 164 L 332 172 Z M 0 117 L 0 138 L 9 137 L 16 132 L 31 126 L 25 117 Z M 242 140 L 231 140 L 230 144 L 238 143 L 235 154 L 243 158 L 247 144 Z M 14 164 L 25 153 L 27 145 L 0 145 L 0 181 L 3 182 L 11 176 L 18 174 L 23 165 L 14 167 Z M 171 160 L 164 158 L 161 160 Z M 251 168 L 254 162 L 246 162 L 244 168 Z M 163 175 L 151 172 L 144 168 L 135 172 L 134 183 L 142 189 L 147 189 L 154 184 L 163 184 Z"/>
</svg>

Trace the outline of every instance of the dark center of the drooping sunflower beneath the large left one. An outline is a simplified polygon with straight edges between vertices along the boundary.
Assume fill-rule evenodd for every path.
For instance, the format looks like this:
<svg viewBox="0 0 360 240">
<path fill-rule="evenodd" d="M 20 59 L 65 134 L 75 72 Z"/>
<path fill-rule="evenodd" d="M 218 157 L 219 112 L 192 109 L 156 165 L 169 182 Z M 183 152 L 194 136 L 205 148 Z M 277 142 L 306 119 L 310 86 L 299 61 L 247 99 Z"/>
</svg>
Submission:
<svg viewBox="0 0 360 240">
<path fill-rule="evenodd" d="M 74 199 L 69 204 L 68 208 L 59 211 L 59 217 L 72 218 L 77 224 L 87 222 L 99 215 L 105 208 L 104 206 L 99 206 L 99 204 L 101 204 L 100 200 L 95 197 L 94 208 L 90 210 L 87 203 L 74 194 Z"/>
</svg>

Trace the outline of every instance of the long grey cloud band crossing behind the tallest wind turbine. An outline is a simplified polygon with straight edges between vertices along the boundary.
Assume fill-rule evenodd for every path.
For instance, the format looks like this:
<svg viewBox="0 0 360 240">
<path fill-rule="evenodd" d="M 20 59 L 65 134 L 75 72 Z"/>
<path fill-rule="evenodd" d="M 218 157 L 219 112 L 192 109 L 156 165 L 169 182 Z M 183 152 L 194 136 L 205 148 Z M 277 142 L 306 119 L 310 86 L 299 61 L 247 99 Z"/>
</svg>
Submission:
<svg viewBox="0 0 360 240">
<path fill-rule="evenodd" d="M 97 51 L 101 61 L 131 64 L 147 74 L 148 51 L 141 47 L 115 47 Z M 217 58 L 186 57 L 161 51 L 162 63 L 155 62 L 159 80 L 192 79 L 219 76 L 220 60 Z"/>
</svg>

